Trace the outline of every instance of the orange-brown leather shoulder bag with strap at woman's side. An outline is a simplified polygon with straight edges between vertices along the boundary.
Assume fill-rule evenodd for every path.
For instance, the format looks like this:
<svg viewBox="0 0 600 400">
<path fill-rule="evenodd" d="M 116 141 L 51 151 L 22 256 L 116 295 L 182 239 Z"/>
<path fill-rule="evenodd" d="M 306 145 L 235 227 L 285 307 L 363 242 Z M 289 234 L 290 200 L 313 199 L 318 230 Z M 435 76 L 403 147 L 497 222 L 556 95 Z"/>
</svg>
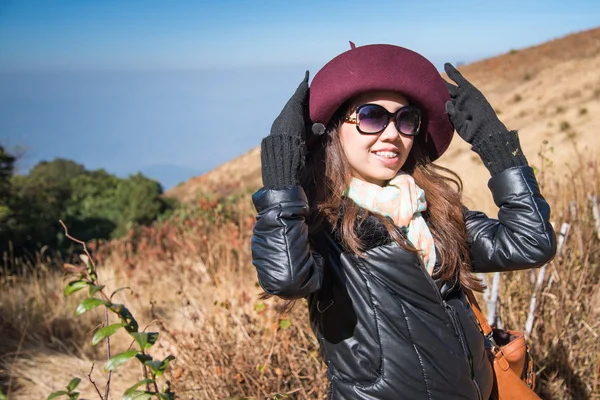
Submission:
<svg viewBox="0 0 600 400">
<path fill-rule="evenodd" d="M 490 359 L 494 366 L 495 388 L 492 398 L 499 400 L 539 400 L 533 391 L 535 372 L 529 345 L 523 332 L 490 327 L 471 292 L 465 289 L 483 335 L 492 343 Z"/>
</svg>

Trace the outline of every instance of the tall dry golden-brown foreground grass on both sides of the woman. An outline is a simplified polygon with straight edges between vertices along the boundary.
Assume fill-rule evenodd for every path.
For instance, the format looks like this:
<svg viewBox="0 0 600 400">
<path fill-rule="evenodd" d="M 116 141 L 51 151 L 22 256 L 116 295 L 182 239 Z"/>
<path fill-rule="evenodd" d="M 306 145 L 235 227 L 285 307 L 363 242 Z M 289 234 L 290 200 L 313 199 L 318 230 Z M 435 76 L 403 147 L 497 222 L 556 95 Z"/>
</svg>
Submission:
<svg viewBox="0 0 600 400">
<path fill-rule="evenodd" d="M 544 399 L 600 399 L 600 240 L 587 196 L 600 187 L 598 165 L 574 165 L 569 185 L 539 174 L 553 208 L 553 221 L 571 224 L 562 255 L 548 267 L 531 343 Z M 577 214 L 571 213 L 576 201 Z M 100 280 L 123 294 L 141 326 L 161 333 L 157 357 L 177 359 L 168 373 L 184 399 L 326 397 L 325 367 L 308 324 L 305 301 L 281 315 L 282 303 L 264 303 L 251 265 L 254 211 L 248 194 L 202 200 L 172 220 L 156 224 L 96 252 Z M 65 278 L 50 268 L 27 279 L 0 283 L 2 333 L 0 374 L 9 398 L 44 398 L 72 376 L 86 376 L 103 348 L 89 342 L 102 315 L 73 317 L 76 295 L 61 292 Z M 504 326 L 523 329 L 537 271 L 503 274 L 499 314 Z M 123 292 L 124 293 L 124 292 Z M 118 337 L 116 348 L 126 346 Z M 135 361 L 113 377 L 111 398 L 140 379 Z M 103 382 L 99 368 L 94 379 Z"/>
</svg>

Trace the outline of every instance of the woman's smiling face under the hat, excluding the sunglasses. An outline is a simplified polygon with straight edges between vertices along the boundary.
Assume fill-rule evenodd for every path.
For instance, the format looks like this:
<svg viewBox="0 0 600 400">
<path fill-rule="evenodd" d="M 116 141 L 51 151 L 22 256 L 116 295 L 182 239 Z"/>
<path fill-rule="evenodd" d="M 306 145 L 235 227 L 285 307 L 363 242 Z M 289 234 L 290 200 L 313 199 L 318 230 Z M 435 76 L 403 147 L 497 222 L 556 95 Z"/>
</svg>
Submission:
<svg viewBox="0 0 600 400">
<path fill-rule="evenodd" d="M 389 112 L 407 106 L 404 96 L 394 92 L 369 92 L 352 102 L 379 104 Z M 356 116 L 356 107 L 349 110 L 349 117 Z M 406 162 L 412 149 L 414 137 L 398 133 L 393 121 L 385 130 L 374 135 L 365 135 L 356 130 L 356 124 L 342 122 L 339 127 L 340 142 L 352 168 L 352 176 L 366 182 L 384 186 Z"/>
</svg>

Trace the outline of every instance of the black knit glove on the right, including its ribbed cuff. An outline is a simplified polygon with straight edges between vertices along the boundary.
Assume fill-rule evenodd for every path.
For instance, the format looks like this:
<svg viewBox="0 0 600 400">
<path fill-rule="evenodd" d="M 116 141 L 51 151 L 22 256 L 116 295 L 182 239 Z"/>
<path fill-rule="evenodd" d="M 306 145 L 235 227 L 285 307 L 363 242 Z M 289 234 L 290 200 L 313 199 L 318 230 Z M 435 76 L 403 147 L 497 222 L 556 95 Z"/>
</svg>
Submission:
<svg viewBox="0 0 600 400">
<path fill-rule="evenodd" d="M 446 112 L 458 135 L 472 145 L 490 173 L 496 175 L 507 168 L 527 165 L 516 131 L 508 131 L 483 94 L 467 81 L 450 63 L 444 64 L 446 82 L 452 101 Z"/>
</svg>

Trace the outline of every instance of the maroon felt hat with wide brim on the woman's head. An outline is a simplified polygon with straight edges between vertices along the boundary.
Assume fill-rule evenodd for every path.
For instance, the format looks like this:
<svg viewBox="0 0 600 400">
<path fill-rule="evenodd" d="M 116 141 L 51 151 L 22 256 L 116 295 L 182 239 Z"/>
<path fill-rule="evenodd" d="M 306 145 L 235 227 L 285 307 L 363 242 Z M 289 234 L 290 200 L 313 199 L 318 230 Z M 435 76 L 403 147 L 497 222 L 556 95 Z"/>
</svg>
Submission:
<svg viewBox="0 0 600 400">
<path fill-rule="evenodd" d="M 421 140 L 433 161 L 450 145 L 450 94 L 433 64 L 412 50 L 388 44 L 354 47 L 329 61 L 310 86 L 310 119 L 327 125 L 347 100 L 373 90 L 399 92 L 421 109 Z M 425 134 L 423 134 L 425 133 Z"/>
</svg>

